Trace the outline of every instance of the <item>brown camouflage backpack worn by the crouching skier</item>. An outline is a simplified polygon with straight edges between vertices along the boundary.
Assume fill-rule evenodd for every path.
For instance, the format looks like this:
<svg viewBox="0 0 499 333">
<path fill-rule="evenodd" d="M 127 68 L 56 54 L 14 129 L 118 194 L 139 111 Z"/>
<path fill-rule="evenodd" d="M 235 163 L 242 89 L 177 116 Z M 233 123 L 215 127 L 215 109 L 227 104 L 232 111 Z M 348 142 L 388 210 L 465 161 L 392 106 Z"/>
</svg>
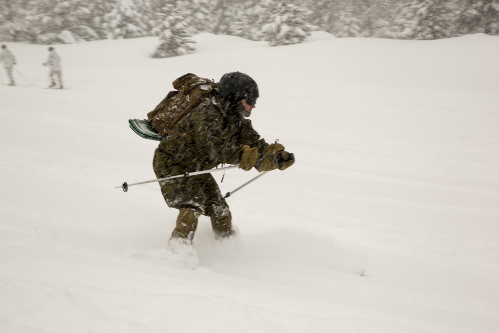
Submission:
<svg viewBox="0 0 499 333">
<path fill-rule="evenodd" d="M 219 84 L 213 80 L 188 73 L 173 81 L 177 90 L 170 91 L 166 97 L 147 114 L 152 127 L 160 134 L 180 134 L 173 130 L 175 124 L 189 110 L 198 106 Z"/>
</svg>

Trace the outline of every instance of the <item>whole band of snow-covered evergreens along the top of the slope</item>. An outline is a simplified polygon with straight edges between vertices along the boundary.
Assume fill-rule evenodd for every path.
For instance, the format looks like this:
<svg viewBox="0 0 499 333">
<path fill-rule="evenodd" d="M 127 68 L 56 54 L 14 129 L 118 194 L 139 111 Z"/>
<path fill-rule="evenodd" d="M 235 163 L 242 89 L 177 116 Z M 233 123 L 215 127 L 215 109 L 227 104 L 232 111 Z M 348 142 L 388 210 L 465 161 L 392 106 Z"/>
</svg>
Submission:
<svg viewBox="0 0 499 333">
<path fill-rule="evenodd" d="M 269 45 L 336 37 L 499 35 L 499 0 L 0 0 L 0 41 L 39 44 L 158 36 L 155 57 L 188 53 L 211 32 Z"/>
</svg>

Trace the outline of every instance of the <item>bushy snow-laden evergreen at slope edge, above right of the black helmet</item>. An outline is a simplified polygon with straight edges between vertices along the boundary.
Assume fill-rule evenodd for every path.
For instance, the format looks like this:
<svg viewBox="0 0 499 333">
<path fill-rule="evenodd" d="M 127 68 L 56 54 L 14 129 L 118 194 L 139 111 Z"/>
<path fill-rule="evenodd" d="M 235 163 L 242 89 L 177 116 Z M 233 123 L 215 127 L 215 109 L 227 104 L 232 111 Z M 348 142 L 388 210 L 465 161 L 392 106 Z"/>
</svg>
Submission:
<svg viewBox="0 0 499 333">
<path fill-rule="evenodd" d="M 271 3 L 268 21 L 261 27 L 270 46 L 303 42 L 317 27 L 309 23 L 311 11 L 285 1 Z"/>
</svg>

